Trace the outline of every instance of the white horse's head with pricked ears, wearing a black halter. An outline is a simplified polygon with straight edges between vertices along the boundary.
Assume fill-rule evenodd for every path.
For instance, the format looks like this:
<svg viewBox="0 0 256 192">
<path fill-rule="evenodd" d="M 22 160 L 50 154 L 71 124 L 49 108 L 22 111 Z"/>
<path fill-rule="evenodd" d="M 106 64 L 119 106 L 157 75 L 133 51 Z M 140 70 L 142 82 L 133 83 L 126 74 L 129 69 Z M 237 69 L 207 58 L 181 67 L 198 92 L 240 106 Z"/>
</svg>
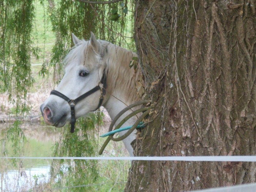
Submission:
<svg viewBox="0 0 256 192">
<path fill-rule="evenodd" d="M 72 118 L 75 120 L 99 108 L 106 100 L 102 92 L 108 97 L 104 76 L 106 49 L 93 33 L 89 41 L 80 40 L 74 34 L 72 37 L 75 46 L 63 61 L 66 65 L 63 79 L 40 107 L 45 123 L 55 127 L 63 127 Z"/>
</svg>

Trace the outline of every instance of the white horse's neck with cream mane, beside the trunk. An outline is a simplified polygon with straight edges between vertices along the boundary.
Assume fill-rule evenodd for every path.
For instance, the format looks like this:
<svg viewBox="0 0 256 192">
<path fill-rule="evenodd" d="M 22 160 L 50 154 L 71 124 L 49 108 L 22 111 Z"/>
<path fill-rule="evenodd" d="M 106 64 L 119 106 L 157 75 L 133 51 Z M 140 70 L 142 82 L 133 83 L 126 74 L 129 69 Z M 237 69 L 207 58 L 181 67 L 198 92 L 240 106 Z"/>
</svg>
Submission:
<svg viewBox="0 0 256 192">
<path fill-rule="evenodd" d="M 106 71 L 108 72 L 106 75 L 107 95 L 105 96 L 105 99 L 108 99 L 103 106 L 108 111 L 112 120 L 121 112 L 121 110 L 140 100 L 135 86 L 136 80 L 138 80 L 140 74 L 140 67 L 138 67 L 137 73 L 133 71 L 133 68 L 129 68 L 129 62 L 134 56 L 136 56 L 135 53 L 118 46 L 110 44 L 108 46 L 108 54 L 105 57 Z M 125 112 L 114 125 L 116 126 L 119 124 L 120 121 L 130 113 L 132 113 L 132 110 Z M 133 116 L 121 127 L 131 126 L 136 120 L 137 117 Z M 122 136 L 125 132 L 127 131 L 119 132 L 118 135 Z M 135 132 L 136 131 L 133 131 L 133 133 L 123 140 L 125 148 L 127 148 L 130 156 L 133 156 L 131 142 L 136 138 Z"/>
</svg>

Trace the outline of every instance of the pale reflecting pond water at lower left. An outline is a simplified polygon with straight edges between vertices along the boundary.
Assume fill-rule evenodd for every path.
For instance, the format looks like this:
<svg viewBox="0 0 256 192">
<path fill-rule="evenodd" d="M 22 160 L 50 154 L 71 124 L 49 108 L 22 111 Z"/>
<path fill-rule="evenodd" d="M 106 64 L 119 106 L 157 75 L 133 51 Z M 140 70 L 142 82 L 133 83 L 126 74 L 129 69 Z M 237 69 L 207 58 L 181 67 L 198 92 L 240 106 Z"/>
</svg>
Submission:
<svg viewBox="0 0 256 192">
<path fill-rule="evenodd" d="M 9 124 L 0 124 L 0 139 L 5 137 Z M 59 133 L 53 127 L 41 123 L 25 123 L 21 128 L 26 136 L 23 157 L 51 157 L 53 144 L 59 140 Z M 8 157 L 12 157 L 14 148 L 11 142 L 2 142 L 1 154 L 6 149 Z M 47 185 L 50 178 L 52 161 L 45 159 L 23 159 L 17 166 L 13 160 L 0 159 L 0 189 L 1 191 L 29 191 L 42 185 Z"/>
</svg>

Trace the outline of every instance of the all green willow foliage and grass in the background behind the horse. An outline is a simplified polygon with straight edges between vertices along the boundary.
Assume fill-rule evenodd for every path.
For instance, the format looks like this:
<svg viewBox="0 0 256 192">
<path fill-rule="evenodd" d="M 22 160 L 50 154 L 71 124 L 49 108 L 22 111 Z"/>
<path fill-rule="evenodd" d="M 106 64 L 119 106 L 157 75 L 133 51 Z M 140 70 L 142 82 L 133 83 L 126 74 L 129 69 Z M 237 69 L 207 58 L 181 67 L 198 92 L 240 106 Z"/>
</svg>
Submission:
<svg viewBox="0 0 256 192">
<path fill-rule="evenodd" d="M 61 80 L 61 61 L 73 46 L 71 33 L 80 39 L 89 39 L 93 31 L 100 39 L 134 50 L 133 4 L 133 0 L 112 4 L 87 4 L 76 0 L 1 0 L 0 93 L 8 95 L 8 107 L 6 101 L 1 102 L 1 114 L 28 116 L 39 113 L 33 108 L 37 101 L 31 101 L 31 95 L 49 94 L 48 91 Z M 52 147 L 53 156 L 97 155 L 103 140 L 98 139 L 99 129 L 95 127 L 99 128 L 102 123 L 103 113 L 97 112 L 79 120 L 73 134 L 67 127 L 53 129 L 60 133 Z M 1 136 L 2 156 L 24 155 L 27 138 L 21 124 L 16 120 Z M 119 144 L 110 146 L 109 151 L 113 149 L 114 153 L 121 152 L 118 155 L 126 155 Z M 12 163 L 20 167 L 23 162 L 14 159 Z M 42 190 L 81 191 L 82 187 L 67 187 L 84 185 L 86 191 L 120 191 L 125 186 L 128 167 L 129 162 L 54 161 L 51 179 Z"/>
</svg>

